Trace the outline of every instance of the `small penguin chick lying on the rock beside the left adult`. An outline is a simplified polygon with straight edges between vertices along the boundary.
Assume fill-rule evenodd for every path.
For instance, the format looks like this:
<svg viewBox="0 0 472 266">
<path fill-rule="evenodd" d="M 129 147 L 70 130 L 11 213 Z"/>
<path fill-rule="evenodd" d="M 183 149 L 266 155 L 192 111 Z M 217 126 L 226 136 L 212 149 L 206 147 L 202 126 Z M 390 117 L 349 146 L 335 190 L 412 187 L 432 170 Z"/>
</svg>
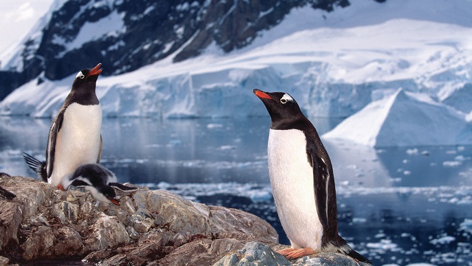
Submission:
<svg viewBox="0 0 472 266">
<path fill-rule="evenodd" d="M 114 188 L 126 192 L 135 191 L 138 188 L 125 186 L 118 183 L 115 174 L 100 164 L 84 164 L 65 177 L 61 183 L 64 188 L 69 186 L 81 186 L 94 196 L 98 201 L 114 203 L 120 205 L 120 201 L 116 198 Z"/>
</svg>

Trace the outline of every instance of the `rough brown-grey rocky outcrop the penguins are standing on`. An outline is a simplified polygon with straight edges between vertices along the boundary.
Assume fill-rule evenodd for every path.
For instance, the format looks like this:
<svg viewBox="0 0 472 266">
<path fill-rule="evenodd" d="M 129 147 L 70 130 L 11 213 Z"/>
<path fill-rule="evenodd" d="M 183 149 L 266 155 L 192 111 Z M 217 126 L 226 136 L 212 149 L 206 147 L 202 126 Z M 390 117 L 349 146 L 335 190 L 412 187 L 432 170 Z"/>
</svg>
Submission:
<svg viewBox="0 0 472 266">
<path fill-rule="evenodd" d="M 115 206 L 95 201 L 85 190 L 57 190 L 30 177 L 1 175 L 0 186 L 17 195 L 0 202 L 0 265 L 50 259 L 101 265 L 290 265 L 272 250 L 284 247 L 277 244 L 274 228 L 242 210 L 148 188 L 118 192 L 120 206 Z M 323 256 L 292 263 L 336 265 L 331 259 L 309 264 Z"/>
</svg>

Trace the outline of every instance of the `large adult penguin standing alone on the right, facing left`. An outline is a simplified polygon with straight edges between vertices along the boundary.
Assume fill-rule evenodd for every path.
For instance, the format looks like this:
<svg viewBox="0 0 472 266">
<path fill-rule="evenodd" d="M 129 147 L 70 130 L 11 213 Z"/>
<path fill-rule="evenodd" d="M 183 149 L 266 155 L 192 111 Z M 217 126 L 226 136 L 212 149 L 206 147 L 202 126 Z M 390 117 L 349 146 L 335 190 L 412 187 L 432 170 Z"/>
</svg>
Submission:
<svg viewBox="0 0 472 266">
<path fill-rule="evenodd" d="M 288 93 L 253 92 L 272 120 L 268 140 L 270 185 L 292 245 L 279 253 L 291 260 L 317 252 L 339 252 L 372 264 L 339 236 L 333 169 L 317 130 Z"/>
</svg>

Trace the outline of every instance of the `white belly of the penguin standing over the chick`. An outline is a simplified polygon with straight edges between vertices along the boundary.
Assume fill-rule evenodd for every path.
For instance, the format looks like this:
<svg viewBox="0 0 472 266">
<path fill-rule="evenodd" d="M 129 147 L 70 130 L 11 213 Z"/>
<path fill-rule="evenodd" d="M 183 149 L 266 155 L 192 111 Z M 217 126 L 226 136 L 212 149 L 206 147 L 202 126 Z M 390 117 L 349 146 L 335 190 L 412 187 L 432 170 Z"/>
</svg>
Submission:
<svg viewBox="0 0 472 266">
<path fill-rule="evenodd" d="M 97 105 L 72 103 L 64 112 L 56 137 L 54 168 L 48 182 L 57 186 L 78 166 L 95 164 L 100 153 L 102 108 Z"/>
</svg>

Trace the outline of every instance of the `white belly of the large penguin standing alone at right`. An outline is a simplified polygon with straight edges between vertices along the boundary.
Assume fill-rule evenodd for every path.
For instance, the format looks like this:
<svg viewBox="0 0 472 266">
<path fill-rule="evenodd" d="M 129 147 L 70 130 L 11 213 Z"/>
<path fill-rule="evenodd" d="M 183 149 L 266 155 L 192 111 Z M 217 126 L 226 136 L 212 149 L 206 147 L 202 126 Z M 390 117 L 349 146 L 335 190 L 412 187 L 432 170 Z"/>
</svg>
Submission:
<svg viewBox="0 0 472 266">
<path fill-rule="evenodd" d="M 320 250 L 323 227 L 314 199 L 305 134 L 297 129 L 270 129 L 268 164 L 275 207 L 292 247 Z"/>
</svg>

